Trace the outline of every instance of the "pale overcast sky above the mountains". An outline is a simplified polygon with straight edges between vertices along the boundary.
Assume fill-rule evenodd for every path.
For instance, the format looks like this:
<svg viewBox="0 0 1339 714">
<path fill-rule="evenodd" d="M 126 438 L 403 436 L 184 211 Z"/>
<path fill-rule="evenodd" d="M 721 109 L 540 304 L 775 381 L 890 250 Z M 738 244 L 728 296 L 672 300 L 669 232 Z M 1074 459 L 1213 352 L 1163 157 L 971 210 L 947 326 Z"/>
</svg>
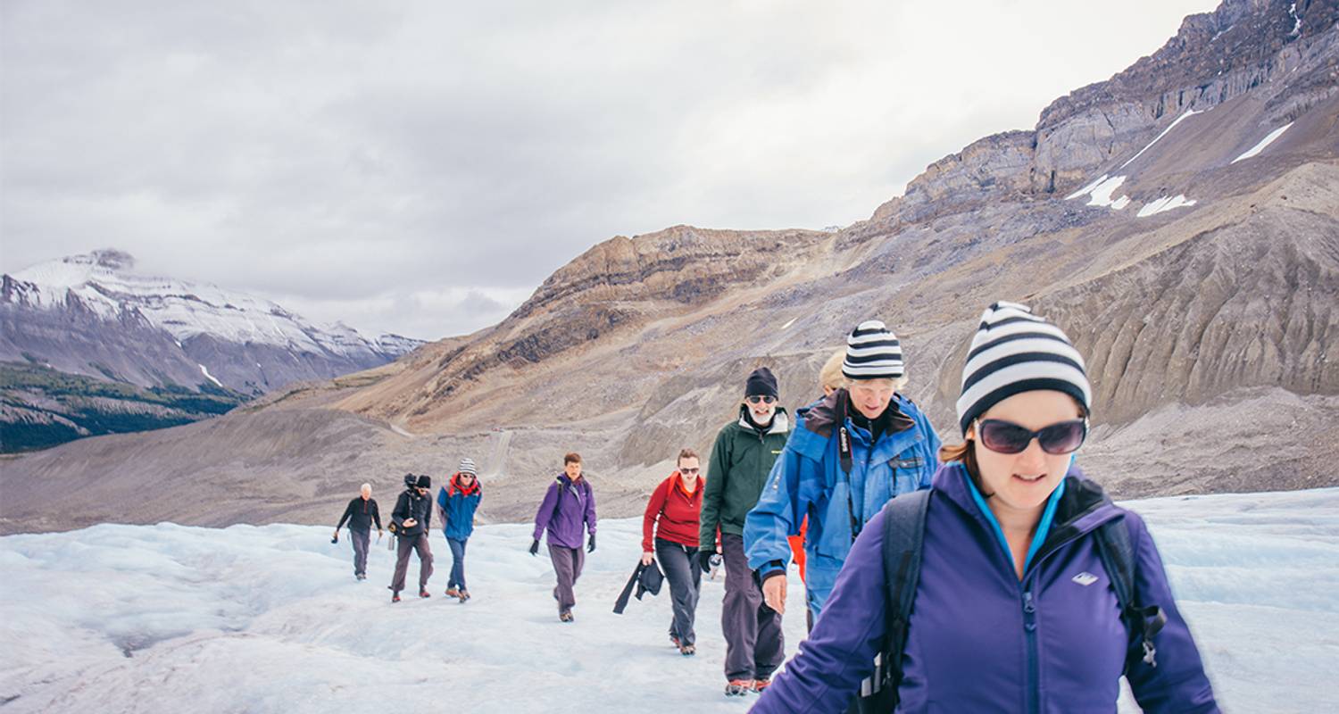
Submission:
<svg viewBox="0 0 1339 714">
<path fill-rule="evenodd" d="M 868 218 L 1213 0 L 0 3 L 0 269 L 493 324 L 611 236 Z"/>
</svg>

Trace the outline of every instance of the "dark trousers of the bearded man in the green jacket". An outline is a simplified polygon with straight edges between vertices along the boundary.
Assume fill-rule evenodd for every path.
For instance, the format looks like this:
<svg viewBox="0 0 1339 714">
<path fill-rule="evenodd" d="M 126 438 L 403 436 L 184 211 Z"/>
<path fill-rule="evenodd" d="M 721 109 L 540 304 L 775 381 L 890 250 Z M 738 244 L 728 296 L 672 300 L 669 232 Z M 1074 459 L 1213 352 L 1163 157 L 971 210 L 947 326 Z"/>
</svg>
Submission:
<svg viewBox="0 0 1339 714">
<path fill-rule="evenodd" d="M 720 534 L 726 561 L 726 600 L 720 630 L 726 635 L 726 679 L 770 679 L 786 659 L 781 614 L 762 601 L 762 588 L 749 569 L 744 539 Z"/>
</svg>

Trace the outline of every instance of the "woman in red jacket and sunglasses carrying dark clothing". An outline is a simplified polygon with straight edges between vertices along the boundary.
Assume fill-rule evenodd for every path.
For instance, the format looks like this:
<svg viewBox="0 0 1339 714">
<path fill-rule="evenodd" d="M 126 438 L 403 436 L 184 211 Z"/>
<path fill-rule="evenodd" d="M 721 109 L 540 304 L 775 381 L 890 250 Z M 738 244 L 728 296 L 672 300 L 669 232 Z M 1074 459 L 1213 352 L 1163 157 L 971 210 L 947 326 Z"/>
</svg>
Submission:
<svg viewBox="0 0 1339 714">
<path fill-rule="evenodd" d="M 698 565 L 698 528 L 704 478 L 692 449 L 679 451 L 679 470 L 656 486 L 641 524 L 641 564 L 660 561 L 670 580 L 674 620 L 670 639 L 684 656 L 696 652 L 692 620 L 698 612 L 702 568 Z"/>
</svg>

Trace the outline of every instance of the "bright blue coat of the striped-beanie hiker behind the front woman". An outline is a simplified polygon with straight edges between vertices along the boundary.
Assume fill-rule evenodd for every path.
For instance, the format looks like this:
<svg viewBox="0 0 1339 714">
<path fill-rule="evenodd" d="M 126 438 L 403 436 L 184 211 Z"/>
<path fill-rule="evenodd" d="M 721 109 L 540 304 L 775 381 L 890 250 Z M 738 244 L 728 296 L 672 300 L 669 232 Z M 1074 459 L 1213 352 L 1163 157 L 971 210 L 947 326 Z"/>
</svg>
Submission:
<svg viewBox="0 0 1339 714">
<path fill-rule="evenodd" d="M 845 390 L 838 390 L 799 410 L 795 430 L 773 465 L 758 505 L 744 520 L 749 567 L 766 577 L 786 568 L 790 560 L 786 536 L 799 533 L 799 524 L 809 516 L 805 585 L 815 616 L 854 540 L 852 517 L 862 526 L 894 496 L 929 488 L 939 466 L 940 441 L 935 429 L 916 405 L 898 394 L 893 399 L 912 426 L 881 434 L 873 447 L 869 431 L 846 418 L 852 437 L 848 477 L 841 468 L 840 430 L 834 425 L 838 399 L 845 398 Z"/>
</svg>

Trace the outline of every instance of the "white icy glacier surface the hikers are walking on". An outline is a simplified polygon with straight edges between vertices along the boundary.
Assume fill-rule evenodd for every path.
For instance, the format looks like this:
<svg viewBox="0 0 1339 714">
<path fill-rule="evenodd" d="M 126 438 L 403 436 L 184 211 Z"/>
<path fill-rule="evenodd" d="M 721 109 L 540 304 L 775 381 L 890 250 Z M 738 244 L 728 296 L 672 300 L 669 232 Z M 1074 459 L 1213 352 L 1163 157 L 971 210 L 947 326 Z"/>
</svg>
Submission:
<svg viewBox="0 0 1339 714">
<path fill-rule="evenodd" d="M 1129 504 L 1152 524 L 1220 701 L 1334 711 L 1339 489 Z M 332 517 L 335 514 L 332 513 Z M 720 581 L 704 581 L 695 658 L 670 646 L 667 592 L 613 600 L 640 520 L 604 521 L 558 623 L 526 525 L 470 541 L 474 600 L 388 601 L 374 543 L 356 583 L 328 528 L 99 525 L 0 539 L 0 705 L 20 711 L 743 711 L 722 695 Z M 416 567 L 410 568 L 411 581 Z M 787 652 L 803 635 L 793 576 Z M 1122 710 L 1133 710 L 1122 705 Z"/>
</svg>

